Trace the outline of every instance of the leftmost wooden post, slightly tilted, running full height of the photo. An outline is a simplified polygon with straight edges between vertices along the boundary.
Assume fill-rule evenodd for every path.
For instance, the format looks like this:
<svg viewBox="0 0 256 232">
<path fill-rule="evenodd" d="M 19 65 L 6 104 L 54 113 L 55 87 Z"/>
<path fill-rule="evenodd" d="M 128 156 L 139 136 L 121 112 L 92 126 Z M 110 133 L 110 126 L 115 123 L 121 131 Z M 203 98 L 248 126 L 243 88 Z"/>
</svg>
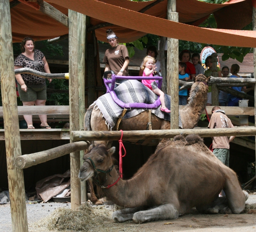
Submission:
<svg viewBox="0 0 256 232">
<path fill-rule="evenodd" d="M 28 225 L 23 170 L 15 168 L 14 165 L 15 158 L 21 155 L 21 148 L 9 0 L 0 1 L 0 22 L 1 94 L 12 231 L 27 232 Z"/>
</svg>

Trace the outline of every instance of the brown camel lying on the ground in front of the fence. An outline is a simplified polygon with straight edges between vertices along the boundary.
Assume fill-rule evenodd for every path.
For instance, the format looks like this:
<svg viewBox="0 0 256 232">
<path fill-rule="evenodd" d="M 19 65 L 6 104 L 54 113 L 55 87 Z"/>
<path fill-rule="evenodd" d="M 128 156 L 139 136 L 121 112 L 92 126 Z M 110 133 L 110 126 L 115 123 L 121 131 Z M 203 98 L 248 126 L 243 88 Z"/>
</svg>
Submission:
<svg viewBox="0 0 256 232">
<path fill-rule="evenodd" d="M 119 174 L 105 145 L 91 146 L 84 155 L 79 178 L 96 176 L 99 185 L 112 185 Z M 129 155 L 129 154 L 128 154 Z M 108 173 L 95 172 L 98 170 Z M 97 175 L 96 175 L 97 173 Z M 218 197 L 221 190 L 225 197 Z M 196 207 L 201 213 L 241 213 L 248 193 L 242 191 L 236 173 L 219 161 L 196 135 L 176 136 L 150 156 L 129 180 L 120 179 L 102 193 L 125 209 L 112 215 L 116 222 L 143 223 L 175 219 Z"/>
</svg>

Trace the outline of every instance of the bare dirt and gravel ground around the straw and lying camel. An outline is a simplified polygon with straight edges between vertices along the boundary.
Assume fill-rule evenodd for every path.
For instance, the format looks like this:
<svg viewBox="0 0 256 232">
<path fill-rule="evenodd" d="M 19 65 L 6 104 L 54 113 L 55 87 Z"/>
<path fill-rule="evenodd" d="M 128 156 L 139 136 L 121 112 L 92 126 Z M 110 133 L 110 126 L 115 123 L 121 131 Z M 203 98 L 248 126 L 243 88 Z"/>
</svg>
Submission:
<svg viewBox="0 0 256 232">
<path fill-rule="evenodd" d="M 256 194 L 250 194 L 248 204 L 256 203 Z M 45 228 L 34 228 L 33 224 L 40 218 L 48 216 L 58 207 L 70 208 L 70 204 L 63 203 L 44 203 L 44 204 L 27 204 L 27 216 L 30 232 L 45 232 Z M 114 224 L 113 222 L 110 222 Z M 172 223 L 172 224 L 165 224 Z M 120 225 L 120 224 L 119 224 Z M 129 226 L 128 226 L 129 225 Z M 132 225 L 132 227 L 131 227 Z M 10 205 L 0 205 L 0 232 L 11 232 L 11 213 Z M 123 223 L 123 229 L 119 231 L 195 231 L 195 232 L 238 232 L 238 231 L 255 231 L 256 232 L 256 215 L 255 214 L 199 214 L 195 209 L 179 217 L 176 220 L 157 221 L 144 224 L 133 224 L 132 222 Z"/>
</svg>

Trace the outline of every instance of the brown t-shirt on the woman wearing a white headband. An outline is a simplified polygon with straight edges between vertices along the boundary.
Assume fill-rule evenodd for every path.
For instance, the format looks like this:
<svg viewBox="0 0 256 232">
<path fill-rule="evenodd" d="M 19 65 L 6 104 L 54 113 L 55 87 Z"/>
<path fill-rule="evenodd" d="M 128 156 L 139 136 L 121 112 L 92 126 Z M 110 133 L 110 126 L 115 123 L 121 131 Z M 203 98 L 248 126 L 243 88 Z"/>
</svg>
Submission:
<svg viewBox="0 0 256 232">
<path fill-rule="evenodd" d="M 115 49 L 108 49 L 105 52 L 103 62 L 110 66 L 110 69 L 117 74 L 124 65 L 125 57 L 129 58 L 127 47 L 123 44 L 117 45 Z M 128 76 L 128 67 L 124 69 L 123 76 Z"/>
</svg>

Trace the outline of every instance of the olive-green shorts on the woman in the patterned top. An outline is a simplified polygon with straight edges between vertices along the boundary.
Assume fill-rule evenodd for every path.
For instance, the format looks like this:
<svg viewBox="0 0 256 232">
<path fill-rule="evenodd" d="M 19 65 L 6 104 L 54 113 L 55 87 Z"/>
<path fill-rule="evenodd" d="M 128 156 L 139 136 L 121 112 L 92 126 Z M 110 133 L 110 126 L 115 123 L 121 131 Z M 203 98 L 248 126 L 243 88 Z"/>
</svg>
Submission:
<svg viewBox="0 0 256 232">
<path fill-rule="evenodd" d="M 22 102 L 34 102 L 35 100 L 46 100 L 46 85 L 40 88 L 27 87 L 27 92 L 21 89 L 18 83 L 18 91 Z"/>
</svg>

